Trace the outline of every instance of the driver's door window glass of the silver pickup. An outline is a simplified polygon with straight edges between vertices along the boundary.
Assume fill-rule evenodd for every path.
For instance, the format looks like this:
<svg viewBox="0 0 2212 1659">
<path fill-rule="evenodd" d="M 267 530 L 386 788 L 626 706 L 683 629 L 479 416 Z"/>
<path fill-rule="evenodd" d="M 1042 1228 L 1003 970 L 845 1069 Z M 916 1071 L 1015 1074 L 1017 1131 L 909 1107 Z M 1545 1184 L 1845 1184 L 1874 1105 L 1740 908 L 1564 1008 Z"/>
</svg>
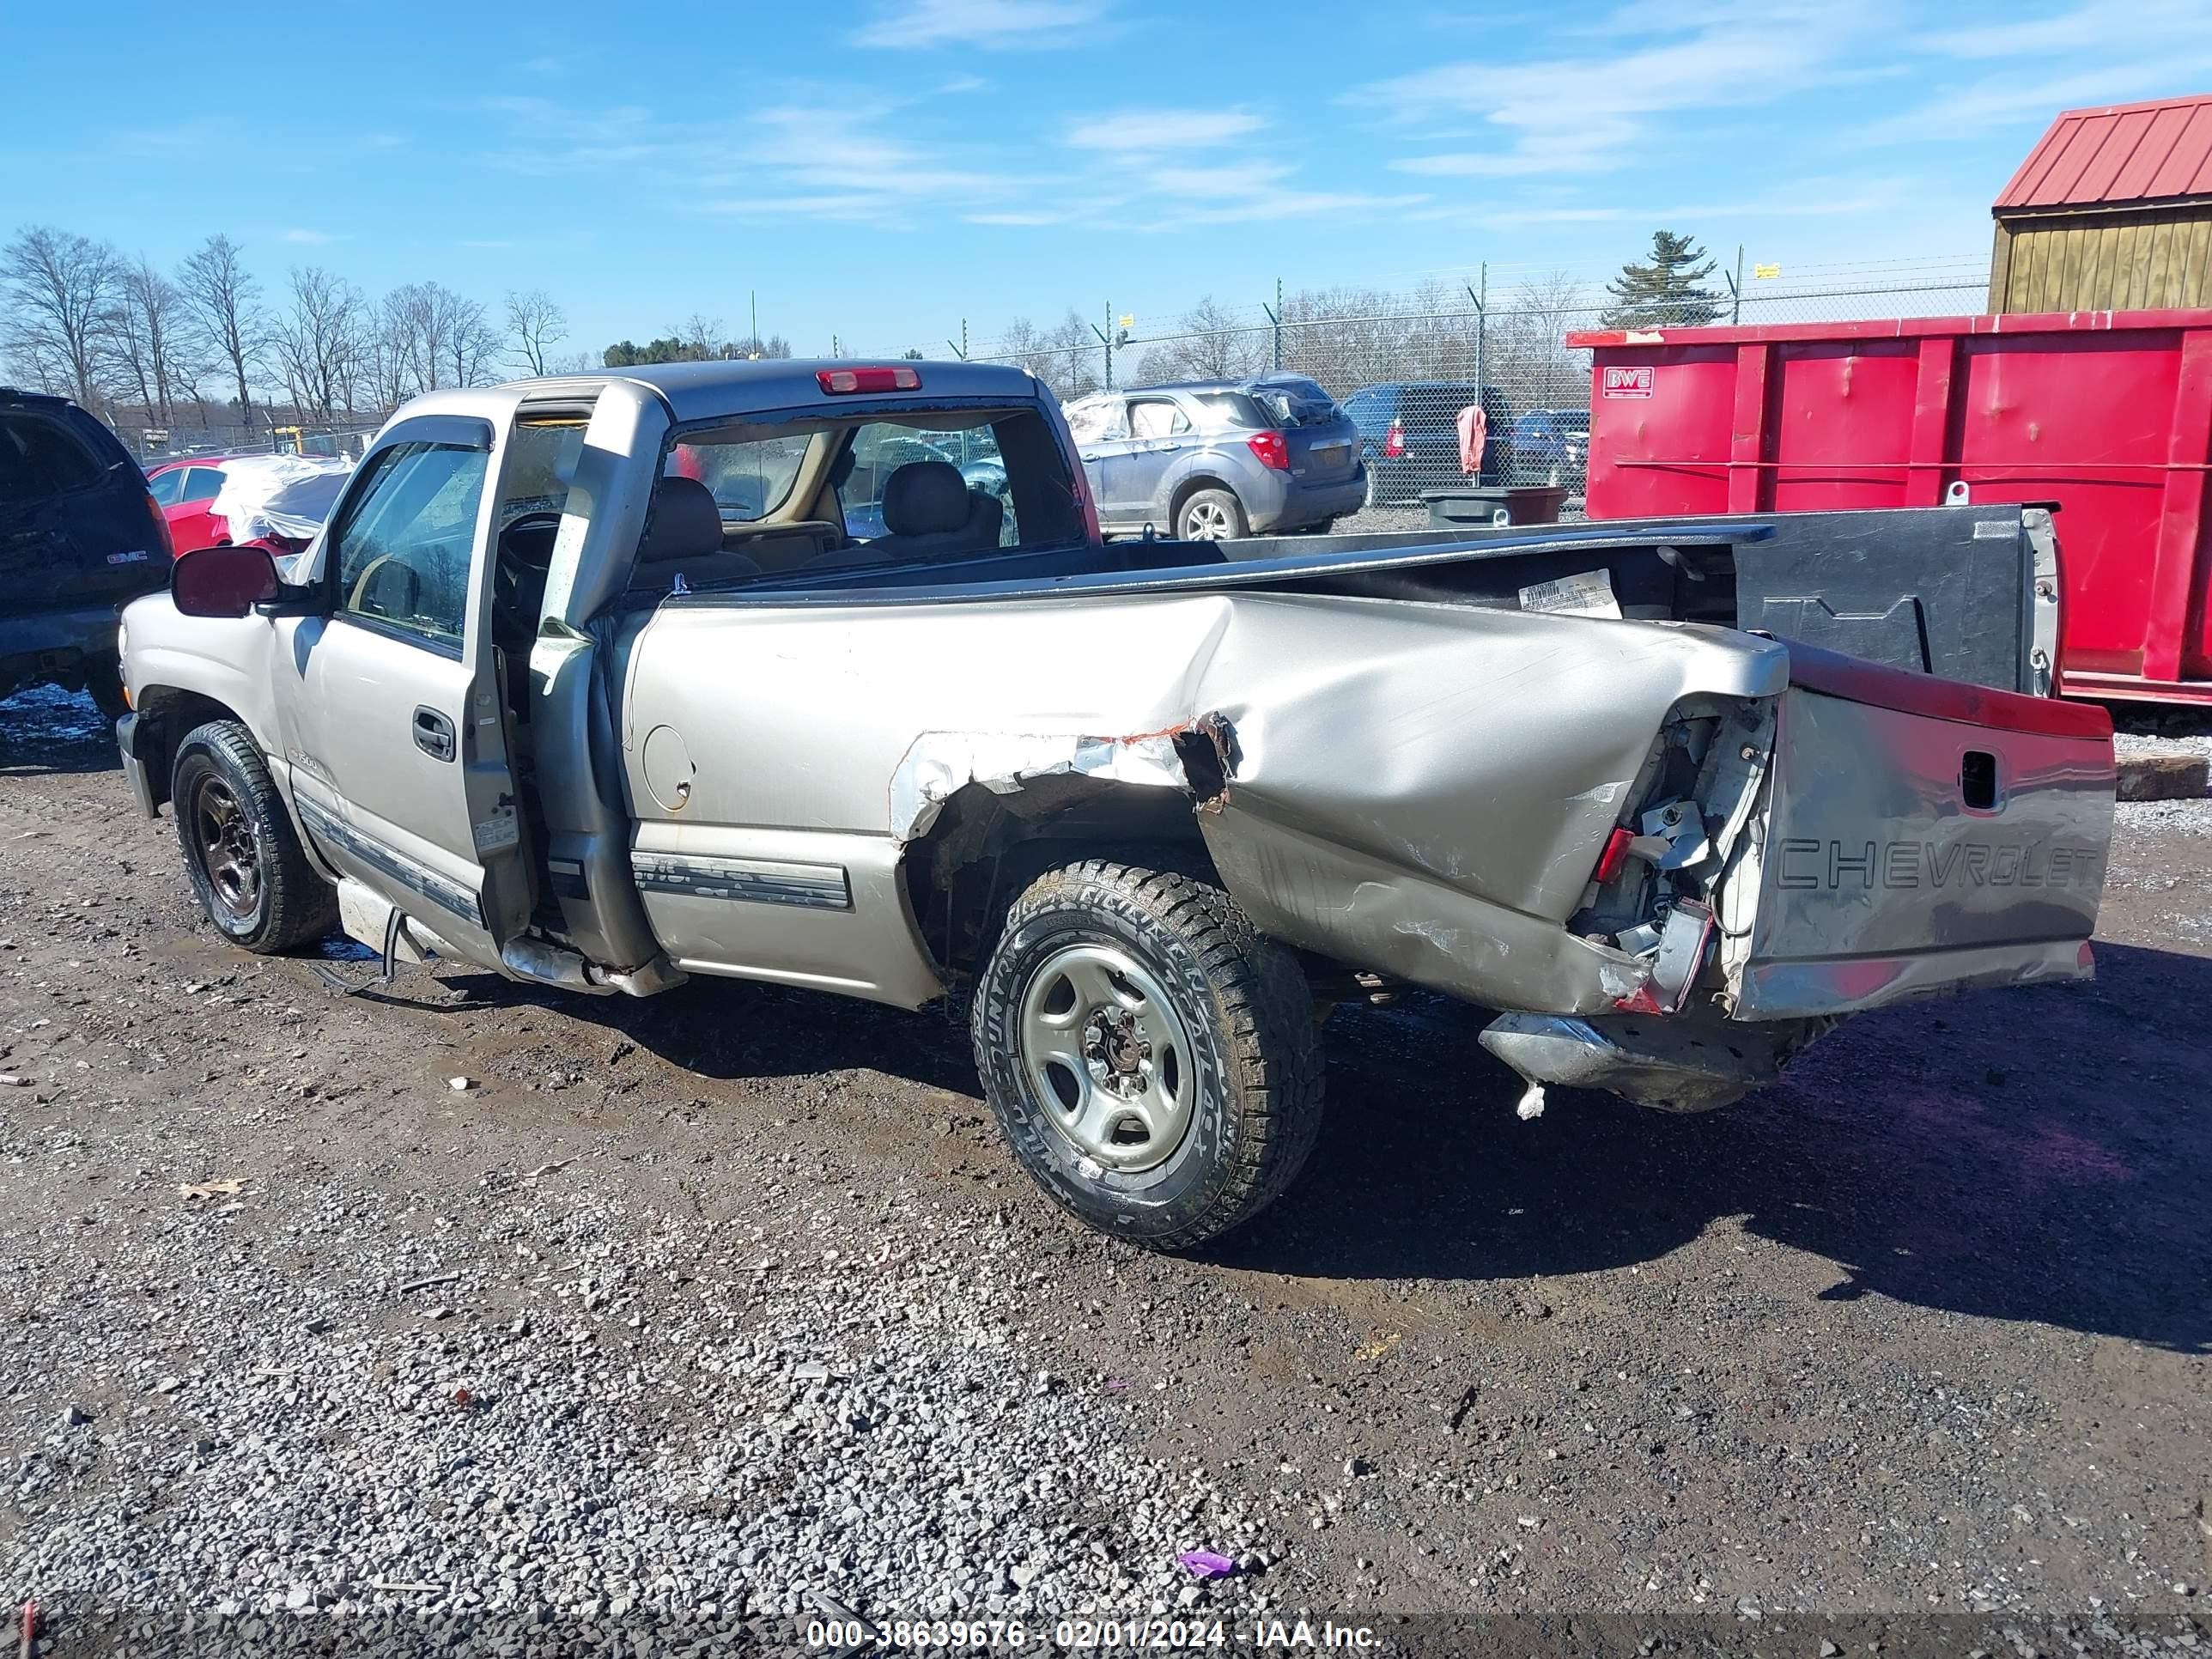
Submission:
<svg viewBox="0 0 2212 1659">
<path fill-rule="evenodd" d="M 427 442 L 376 456 L 334 533 L 341 617 L 449 655 L 460 650 L 489 460 L 482 449 Z"/>
</svg>

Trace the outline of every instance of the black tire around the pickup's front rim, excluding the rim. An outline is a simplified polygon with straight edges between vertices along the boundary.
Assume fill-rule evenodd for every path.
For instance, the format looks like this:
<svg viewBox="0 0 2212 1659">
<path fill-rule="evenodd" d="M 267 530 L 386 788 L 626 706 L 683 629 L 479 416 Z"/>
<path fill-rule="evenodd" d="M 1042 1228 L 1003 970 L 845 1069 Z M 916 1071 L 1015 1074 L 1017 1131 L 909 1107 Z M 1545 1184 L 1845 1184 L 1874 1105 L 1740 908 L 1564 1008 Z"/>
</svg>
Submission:
<svg viewBox="0 0 2212 1659">
<path fill-rule="evenodd" d="M 237 803 L 257 852 L 259 891 L 237 911 L 217 891 L 199 841 L 199 799 L 208 783 Z M 186 732 L 170 772 L 170 812 L 184 849 L 184 874 L 199 907 L 223 938 L 257 956 L 281 956 L 323 938 L 338 925 L 338 894 L 323 880 L 292 830 L 268 763 L 252 732 L 237 721 L 208 721 Z"/>
</svg>

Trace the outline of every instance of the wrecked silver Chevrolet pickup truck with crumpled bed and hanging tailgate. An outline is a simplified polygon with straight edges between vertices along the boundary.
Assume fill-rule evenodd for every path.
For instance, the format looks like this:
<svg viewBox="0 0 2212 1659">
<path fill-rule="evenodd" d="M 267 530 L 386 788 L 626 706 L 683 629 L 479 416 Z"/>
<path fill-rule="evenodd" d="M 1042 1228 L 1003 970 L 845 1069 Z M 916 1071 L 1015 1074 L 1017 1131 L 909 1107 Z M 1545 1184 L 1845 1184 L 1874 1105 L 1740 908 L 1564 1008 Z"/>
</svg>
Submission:
<svg viewBox="0 0 2212 1659">
<path fill-rule="evenodd" d="M 1593 568 L 1106 544 L 1009 367 L 436 392 L 283 573 L 192 551 L 124 613 L 117 737 L 250 951 L 967 995 L 1015 1157 L 1166 1250 L 1292 1181 L 1347 998 L 1495 1011 L 1533 1117 L 2090 973 L 2101 710 L 1619 619 L 1624 538 L 1697 526 L 1542 535 Z"/>
</svg>

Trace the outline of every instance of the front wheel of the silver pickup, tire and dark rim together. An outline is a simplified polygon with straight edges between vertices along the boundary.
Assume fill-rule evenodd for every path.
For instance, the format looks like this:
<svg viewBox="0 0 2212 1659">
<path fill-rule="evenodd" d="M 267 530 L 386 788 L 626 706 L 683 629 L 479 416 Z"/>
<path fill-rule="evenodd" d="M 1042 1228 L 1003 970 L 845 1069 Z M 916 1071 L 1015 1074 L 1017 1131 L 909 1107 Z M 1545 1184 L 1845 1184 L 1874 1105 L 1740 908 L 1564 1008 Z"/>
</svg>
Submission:
<svg viewBox="0 0 2212 1659">
<path fill-rule="evenodd" d="M 307 863 L 243 726 L 208 721 L 188 732 L 168 799 L 199 907 L 232 945 L 276 956 L 338 925 L 338 896 Z"/>
</svg>

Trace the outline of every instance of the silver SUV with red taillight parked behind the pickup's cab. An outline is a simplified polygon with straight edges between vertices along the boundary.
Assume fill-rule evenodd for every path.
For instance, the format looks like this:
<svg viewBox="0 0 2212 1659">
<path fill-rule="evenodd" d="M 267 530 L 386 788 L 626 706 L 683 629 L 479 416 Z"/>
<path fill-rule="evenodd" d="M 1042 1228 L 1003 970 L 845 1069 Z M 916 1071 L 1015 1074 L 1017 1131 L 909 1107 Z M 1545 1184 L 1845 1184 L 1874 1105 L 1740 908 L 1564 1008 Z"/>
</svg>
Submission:
<svg viewBox="0 0 2212 1659">
<path fill-rule="evenodd" d="M 1358 429 L 1301 374 L 1097 392 L 1066 416 L 1108 533 L 1325 531 L 1367 500 Z"/>
</svg>

